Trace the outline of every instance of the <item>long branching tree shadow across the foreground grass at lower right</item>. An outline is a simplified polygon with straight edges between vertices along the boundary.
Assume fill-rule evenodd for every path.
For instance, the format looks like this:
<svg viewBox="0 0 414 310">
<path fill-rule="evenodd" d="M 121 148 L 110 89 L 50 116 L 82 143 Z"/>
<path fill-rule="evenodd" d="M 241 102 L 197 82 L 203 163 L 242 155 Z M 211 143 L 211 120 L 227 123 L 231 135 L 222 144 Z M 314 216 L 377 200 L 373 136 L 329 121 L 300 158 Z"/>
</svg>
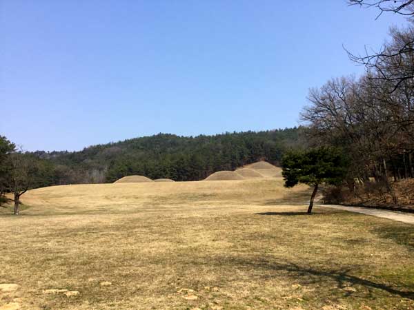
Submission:
<svg viewBox="0 0 414 310">
<path fill-rule="evenodd" d="M 373 280 L 367 280 L 364 278 L 360 278 L 358 276 L 354 276 L 351 274 L 351 268 L 339 270 L 315 269 L 311 267 L 300 266 L 298 264 L 295 264 L 294 262 L 272 262 L 271 258 L 269 260 L 264 260 L 263 258 L 252 258 L 251 260 L 246 260 L 242 258 L 232 257 L 219 259 L 217 261 L 217 264 L 222 265 L 226 261 L 235 267 L 250 267 L 255 270 L 266 269 L 266 271 L 285 272 L 287 273 L 287 276 L 295 277 L 298 282 L 302 282 L 305 285 L 314 283 L 320 284 L 326 282 L 327 280 L 333 280 L 337 283 L 337 287 L 339 287 L 339 289 L 359 285 L 368 289 L 370 293 L 372 289 L 380 289 L 384 292 L 391 293 L 402 298 L 414 300 L 414 291 L 402 291 L 400 289 L 395 289 L 394 287 L 391 287 L 391 285 L 388 284 L 375 282 Z M 354 293 L 360 294 L 362 292 L 356 289 L 355 292 L 346 290 L 342 292 L 344 296 L 352 296 Z"/>
</svg>

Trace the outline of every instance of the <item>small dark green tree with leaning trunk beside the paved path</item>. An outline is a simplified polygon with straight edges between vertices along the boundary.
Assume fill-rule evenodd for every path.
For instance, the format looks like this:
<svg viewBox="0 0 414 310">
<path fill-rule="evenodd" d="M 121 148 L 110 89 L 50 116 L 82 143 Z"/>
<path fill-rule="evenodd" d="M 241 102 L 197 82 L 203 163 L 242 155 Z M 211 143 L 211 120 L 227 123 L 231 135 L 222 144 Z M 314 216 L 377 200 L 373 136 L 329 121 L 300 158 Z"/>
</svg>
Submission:
<svg viewBox="0 0 414 310">
<path fill-rule="evenodd" d="M 282 174 L 286 187 L 294 187 L 298 183 L 313 186 L 308 214 L 312 212 L 319 184 L 338 185 L 344 180 L 346 167 L 342 152 L 333 147 L 288 152 L 282 158 Z"/>
</svg>

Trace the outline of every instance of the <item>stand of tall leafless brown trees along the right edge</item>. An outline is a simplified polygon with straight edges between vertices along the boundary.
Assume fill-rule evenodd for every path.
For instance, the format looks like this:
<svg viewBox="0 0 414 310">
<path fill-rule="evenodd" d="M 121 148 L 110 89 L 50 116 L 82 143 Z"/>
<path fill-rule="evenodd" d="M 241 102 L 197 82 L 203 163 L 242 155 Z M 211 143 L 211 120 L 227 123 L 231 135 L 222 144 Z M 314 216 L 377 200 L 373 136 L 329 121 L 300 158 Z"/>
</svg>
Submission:
<svg viewBox="0 0 414 310">
<path fill-rule="evenodd" d="M 397 203 L 392 180 L 414 176 L 413 24 L 392 28 L 379 54 L 351 58 L 366 74 L 310 90 L 302 119 L 313 145 L 341 147 L 350 158 L 346 182 L 355 195 L 374 179 Z"/>
</svg>

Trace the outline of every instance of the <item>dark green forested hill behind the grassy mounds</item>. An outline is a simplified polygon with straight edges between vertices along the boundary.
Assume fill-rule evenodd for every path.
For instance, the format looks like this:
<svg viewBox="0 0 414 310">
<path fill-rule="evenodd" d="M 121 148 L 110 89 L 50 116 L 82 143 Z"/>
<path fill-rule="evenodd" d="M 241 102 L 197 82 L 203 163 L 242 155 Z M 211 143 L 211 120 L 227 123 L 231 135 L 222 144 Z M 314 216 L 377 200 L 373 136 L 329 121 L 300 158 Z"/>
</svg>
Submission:
<svg viewBox="0 0 414 310">
<path fill-rule="evenodd" d="M 80 152 L 33 154 L 48 167 L 44 185 L 113 182 L 139 174 L 149 178 L 201 180 L 219 170 L 260 159 L 278 164 L 286 149 L 297 147 L 301 127 L 215 136 L 157 134 L 94 145 Z"/>
</svg>

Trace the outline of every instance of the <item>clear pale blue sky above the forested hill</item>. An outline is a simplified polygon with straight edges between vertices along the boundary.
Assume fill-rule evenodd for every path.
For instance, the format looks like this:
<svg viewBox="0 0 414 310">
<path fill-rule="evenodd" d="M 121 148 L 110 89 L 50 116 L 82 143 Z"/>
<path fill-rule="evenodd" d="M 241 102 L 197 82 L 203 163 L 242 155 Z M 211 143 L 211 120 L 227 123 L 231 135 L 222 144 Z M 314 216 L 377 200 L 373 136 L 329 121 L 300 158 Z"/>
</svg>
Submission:
<svg viewBox="0 0 414 310">
<path fill-rule="evenodd" d="M 298 125 L 309 87 L 362 72 L 342 45 L 380 48 L 406 23 L 376 15 L 345 0 L 0 0 L 0 134 L 74 150 Z"/>
</svg>

